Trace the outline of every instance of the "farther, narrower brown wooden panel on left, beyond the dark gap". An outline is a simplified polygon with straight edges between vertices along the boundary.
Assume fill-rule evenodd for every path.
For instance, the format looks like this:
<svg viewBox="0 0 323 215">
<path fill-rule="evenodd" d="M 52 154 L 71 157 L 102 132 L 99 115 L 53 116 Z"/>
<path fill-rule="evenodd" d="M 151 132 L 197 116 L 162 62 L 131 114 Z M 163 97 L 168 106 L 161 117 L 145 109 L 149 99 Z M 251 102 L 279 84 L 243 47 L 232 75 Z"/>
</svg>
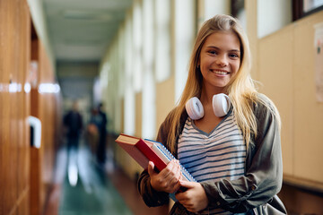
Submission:
<svg viewBox="0 0 323 215">
<path fill-rule="evenodd" d="M 42 125 L 41 147 L 31 148 L 31 214 L 39 214 L 46 206 L 53 183 L 61 97 L 59 92 L 50 91 L 56 80 L 45 47 L 39 39 L 33 39 L 31 48 L 31 60 L 38 64 L 37 82 L 31 89 L 31 115 L 38 117 Z"/>
</svg>

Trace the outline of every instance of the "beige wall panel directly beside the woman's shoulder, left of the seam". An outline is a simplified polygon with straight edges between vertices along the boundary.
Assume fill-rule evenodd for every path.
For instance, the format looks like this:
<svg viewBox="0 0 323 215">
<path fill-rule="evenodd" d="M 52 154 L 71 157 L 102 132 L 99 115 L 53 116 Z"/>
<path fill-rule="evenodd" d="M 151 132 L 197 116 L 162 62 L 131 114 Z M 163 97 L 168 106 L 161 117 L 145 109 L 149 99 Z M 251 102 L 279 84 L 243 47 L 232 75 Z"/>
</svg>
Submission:
<svg viewBox="0 0 323 215">
<path fill-rule="evenodd" d="M 293 169 L 292 34 L 293 30 L 290 26 L 271 35 L 271 37 L 262 39 L 258 47 L 258 68 L 260 71 L 258 74 L 260 82 L 264 84 L 262 90 L 269 98 L 274 99 L 283 121 L 282 150 L 284 152 L 284 173 L 287 174 L 292 174 Z M 277 53 L 284 53 L 284 55 L 277 55 Z M 277 64 L 279 66 L 276 66 Z M 275 82 L 273 82 L 273 79 L 275 79 Z"/>
</svg>

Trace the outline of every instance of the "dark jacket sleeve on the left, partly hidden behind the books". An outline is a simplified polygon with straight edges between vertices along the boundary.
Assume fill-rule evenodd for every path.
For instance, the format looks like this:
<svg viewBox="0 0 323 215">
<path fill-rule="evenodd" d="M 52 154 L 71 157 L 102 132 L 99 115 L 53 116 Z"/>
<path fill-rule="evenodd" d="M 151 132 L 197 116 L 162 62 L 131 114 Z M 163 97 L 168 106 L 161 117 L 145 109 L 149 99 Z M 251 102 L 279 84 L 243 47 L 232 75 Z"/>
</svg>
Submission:
<svg viewBox="0 0 323 215">
<path fill-rule="evenodd" d="M 167 129 L 169 128 L 168 123 L 169 122 L 169 116 L 166 118 L 166 120 L 162 123 L 158 135 L 157 135 L 157 142 L 162 142 L 162 144 L 166 145 L 167 142 Z M 138 191 L 143 197 L 144 203 L 148 207 L 156 207 L 161 206 L 162 204 L 166 204 L 170 201 L 169 193 L 165 192 L 158 192 L 153 189 L 151 183 L 150 183 L 150 176 L 147 172 L 147 170 L 144 170 L 138 179 Z"/>
</svg>

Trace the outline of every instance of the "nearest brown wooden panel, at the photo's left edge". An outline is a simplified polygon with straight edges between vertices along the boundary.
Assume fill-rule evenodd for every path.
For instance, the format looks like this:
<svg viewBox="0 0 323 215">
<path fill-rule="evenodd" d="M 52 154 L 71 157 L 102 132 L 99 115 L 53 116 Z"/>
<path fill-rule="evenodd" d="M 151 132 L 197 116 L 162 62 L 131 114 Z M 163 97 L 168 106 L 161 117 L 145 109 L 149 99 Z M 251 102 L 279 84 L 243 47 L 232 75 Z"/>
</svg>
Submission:
<svg viewBox="0 0 323 215">
<path fill-rule="evenodd" d="M 0 1 L 0 214 L 29 211 L 30 20 L 25 0 Z"/>
</svg>

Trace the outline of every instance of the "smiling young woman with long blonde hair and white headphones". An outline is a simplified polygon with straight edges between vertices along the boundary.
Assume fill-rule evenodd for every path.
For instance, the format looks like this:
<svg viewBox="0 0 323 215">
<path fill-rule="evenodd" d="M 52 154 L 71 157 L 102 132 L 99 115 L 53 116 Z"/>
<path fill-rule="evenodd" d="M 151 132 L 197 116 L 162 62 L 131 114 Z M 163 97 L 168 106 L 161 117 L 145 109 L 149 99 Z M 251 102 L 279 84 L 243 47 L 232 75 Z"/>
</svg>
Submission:
<svg viewBox="0 0 323 215">
<path fill-rule="evenodd" d="M 258 93 L 249 72 L 249 41 L 240 23 L 228 15 L 206 21 L 197 34 L 179 105 L 157 136 L 179 161 L 172 160 L 160 173 L 150 162 L 138 180 L 148 206 L 167 203 L 169 193 L 182 186 L 187 190 L 176 194 L 170 214 L 286 213 L 276 196 L 283 179 L 280 116 L 273 102 Z M 216 115 L 214 95 L 227 102 L 223 115 Z M 204 116 L 192 114 L 192 109 L 201 114 L 202 108 Z M 197 182 L 182 180 L 179 162 Z"/>
</svg>

